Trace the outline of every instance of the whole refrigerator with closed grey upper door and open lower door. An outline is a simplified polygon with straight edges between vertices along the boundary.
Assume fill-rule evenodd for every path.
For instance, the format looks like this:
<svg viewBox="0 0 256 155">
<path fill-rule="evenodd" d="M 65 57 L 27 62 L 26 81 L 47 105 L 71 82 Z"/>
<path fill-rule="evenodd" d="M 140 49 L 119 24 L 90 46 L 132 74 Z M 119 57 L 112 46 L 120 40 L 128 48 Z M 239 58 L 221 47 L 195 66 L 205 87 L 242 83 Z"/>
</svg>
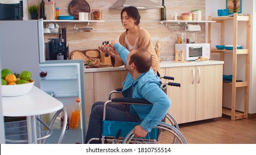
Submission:
<svg viewBox="0 0 256 155">
<path fill-rule="evenodd" d="M 62 143 L 83 143 L 86 132 L 83 60 L 45 61 L 43 20 L 0 21 L 0 54 L 2 69 L 8 68 L 16 73 L 30 71 L 35 86 L 53 92 L 53 97 L 63 102 L 69 119 L 75 99 L 80 98 L 79 128 L 66 130 Z M 48 71 L 47 77 L 40 78 L 40 70 Z M 57 142 L 55 136 L 58 134 L 50 136 L 47 143 Z"/>
</svg>

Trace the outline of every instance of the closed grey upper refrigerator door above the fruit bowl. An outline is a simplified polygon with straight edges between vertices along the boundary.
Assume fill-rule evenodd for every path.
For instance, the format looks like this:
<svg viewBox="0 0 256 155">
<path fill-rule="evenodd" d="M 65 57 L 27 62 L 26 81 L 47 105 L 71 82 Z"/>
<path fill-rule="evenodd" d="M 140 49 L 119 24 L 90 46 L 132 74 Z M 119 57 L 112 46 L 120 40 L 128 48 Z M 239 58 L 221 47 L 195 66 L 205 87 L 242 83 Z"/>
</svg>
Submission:
<svg viewBox="0 0 256 155">
<path fill-rule="evenodd" d="M 30 71 L 35 86 L 40 87 L 39 53 L 44 55 L 43 21 L 9 20 L 0 21 L 0 25 L 2 69 L 8 68 L 13 73 Z"/>
</svg>

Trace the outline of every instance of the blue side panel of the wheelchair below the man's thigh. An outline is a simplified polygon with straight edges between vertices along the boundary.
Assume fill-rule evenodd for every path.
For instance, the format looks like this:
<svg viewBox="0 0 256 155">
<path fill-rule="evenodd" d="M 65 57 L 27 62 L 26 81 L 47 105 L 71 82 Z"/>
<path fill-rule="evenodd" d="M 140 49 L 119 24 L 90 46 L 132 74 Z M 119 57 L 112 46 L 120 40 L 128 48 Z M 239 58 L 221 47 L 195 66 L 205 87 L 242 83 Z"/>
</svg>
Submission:
<svg viewBox="0 0 256 155">
<path fill-rule="evenodd" d="M 122 121 L 103 121 L 103 136 L 125 137 L 135 126 L 140 125 L 140 122 L 122 122 Z M 157 129 L 153 128 L 146 138 L 156 139 Z"/>
</svg>

